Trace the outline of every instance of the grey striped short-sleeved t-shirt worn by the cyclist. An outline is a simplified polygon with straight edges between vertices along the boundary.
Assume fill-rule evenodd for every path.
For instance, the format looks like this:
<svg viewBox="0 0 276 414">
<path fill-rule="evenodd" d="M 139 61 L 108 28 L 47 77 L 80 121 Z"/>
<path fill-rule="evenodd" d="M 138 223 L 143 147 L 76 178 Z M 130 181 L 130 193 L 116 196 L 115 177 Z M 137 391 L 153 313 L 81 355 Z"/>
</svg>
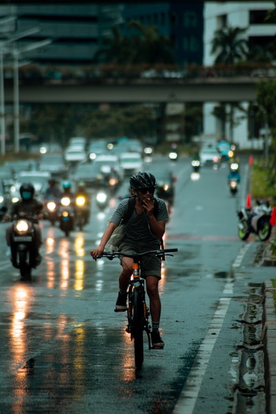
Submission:
<svg viewBox="0 0 276 414">
<path fill-rule="evenodd" d="M 155 202 L 158 204 L 157 208 L 157 221 L 167 220 L 168 219 L 168 210 L 163 199 L 155 199 Z M 117 210 L 112 214 L 110 221 L 115 223 L 117 226 L 121 223 L 121 219 L 126 216 L 128 211 L 128 198 L 121 200 L 119 203 Z M 151 242 L 159 242 L 159 239 L 152 233 L 150 229 L 150 224 L 148 223 L 148 217 L 146 213 L 142 213 L 138 215 L 136 209 L 134 208 L 132 211 L 132 215 L 130 219 L 128 219 L 126 226 L 126 236 L 124 237 L 124 241 L 128 242 L 135 242 L 144 244 L 151 243 Z"/>
</svg>

